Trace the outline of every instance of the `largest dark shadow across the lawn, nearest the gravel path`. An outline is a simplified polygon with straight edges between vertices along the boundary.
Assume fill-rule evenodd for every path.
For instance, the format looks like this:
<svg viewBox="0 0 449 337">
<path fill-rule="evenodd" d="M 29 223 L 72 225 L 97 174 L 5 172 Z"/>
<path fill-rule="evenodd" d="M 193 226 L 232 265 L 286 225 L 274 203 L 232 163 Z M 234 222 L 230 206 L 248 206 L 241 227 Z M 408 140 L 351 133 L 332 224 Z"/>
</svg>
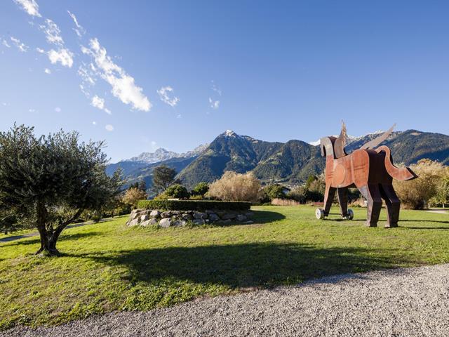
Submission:
<svg viewBox="0 0 449 337">
<path fill-rule="evenodd" d="M 126 266 L 128 273 L 123 279 L 132 284 L 176 280 L 232 288 L 297 284 L 314 277 L 379 270 L 408 262 L 399 252 L 379 249 L 274 243 L 136 249 L 117 256 L 84 257 L 105 265 Z"/>
</svg>

